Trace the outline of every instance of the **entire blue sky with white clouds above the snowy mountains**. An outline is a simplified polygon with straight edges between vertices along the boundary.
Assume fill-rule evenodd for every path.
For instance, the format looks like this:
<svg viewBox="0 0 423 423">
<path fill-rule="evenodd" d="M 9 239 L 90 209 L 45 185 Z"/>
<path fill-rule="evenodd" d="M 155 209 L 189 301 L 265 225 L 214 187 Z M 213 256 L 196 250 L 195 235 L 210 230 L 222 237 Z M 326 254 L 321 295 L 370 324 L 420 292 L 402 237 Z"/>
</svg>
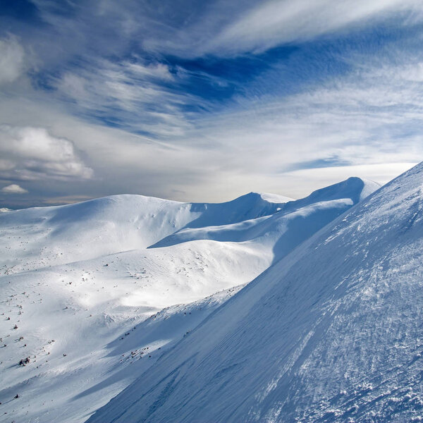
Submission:
<svg viewBox="0 0 423 423">
<path fill-rule="evenodd" d="M 0 207 L 386 183 L 422 42 L 421 0 L 1 0 Z"/>
</svg>

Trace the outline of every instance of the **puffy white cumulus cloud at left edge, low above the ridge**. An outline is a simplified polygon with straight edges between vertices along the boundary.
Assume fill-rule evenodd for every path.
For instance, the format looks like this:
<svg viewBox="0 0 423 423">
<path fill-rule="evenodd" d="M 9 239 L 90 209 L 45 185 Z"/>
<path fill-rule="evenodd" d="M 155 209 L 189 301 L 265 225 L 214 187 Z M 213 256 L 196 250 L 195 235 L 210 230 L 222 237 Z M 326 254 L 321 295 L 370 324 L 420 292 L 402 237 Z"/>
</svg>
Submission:
<svg viewBox="0 0 423 423">
<path fill-rule="evenodd" d="M 91 178 L 73 142 L 44 128 L 0 125 L 0 177 L 8 180 Z"/>
</svg>

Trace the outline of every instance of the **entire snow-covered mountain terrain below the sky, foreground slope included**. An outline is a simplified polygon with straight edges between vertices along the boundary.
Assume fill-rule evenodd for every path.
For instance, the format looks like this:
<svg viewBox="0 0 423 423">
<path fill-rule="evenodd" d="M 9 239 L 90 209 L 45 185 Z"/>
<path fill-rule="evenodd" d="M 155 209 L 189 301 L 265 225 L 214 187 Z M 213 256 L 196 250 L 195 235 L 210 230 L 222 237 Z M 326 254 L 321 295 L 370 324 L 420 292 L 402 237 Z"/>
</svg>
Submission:
<svg viewBox="0 0 423 423">
<path fill-rule="evenodd" d="M 1 421 L 423 419 L 422 186 L 1 212 Z"/>
</svg>

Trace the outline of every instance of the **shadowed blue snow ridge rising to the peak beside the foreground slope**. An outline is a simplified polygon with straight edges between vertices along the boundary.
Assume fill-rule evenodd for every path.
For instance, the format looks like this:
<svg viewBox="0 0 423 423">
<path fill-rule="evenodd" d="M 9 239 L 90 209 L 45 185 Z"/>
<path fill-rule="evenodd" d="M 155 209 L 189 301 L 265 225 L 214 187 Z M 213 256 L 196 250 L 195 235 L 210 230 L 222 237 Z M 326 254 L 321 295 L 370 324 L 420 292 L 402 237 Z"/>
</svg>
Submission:
<svg viewBox="0 0 423 423">
<path fill-rule="evenodd" d="M 378 188 L 379 185 L 372 181 L 349 178 L 316 190 L 302 200 L 280 204 L 278 211 L 269 216 L 222 226 L 184 228 L 152 247 L 192 240 L 247 242 L 259 248 L 262 254 L 273 255 L 276 262 Z"/>
</svg>

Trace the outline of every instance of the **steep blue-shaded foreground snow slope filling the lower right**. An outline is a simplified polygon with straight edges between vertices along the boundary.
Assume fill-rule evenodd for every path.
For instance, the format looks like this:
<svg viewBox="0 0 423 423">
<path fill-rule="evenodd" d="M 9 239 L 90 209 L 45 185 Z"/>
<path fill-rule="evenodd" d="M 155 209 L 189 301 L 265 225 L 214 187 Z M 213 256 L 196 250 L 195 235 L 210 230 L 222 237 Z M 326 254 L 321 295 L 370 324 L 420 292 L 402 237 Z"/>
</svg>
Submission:
<svg viewBox="0 0 423 423">
<path fill-rule="evenodd" d="M 423 165 L 211 314 L 88 422 L 423 419 Z"/>
</svg>

